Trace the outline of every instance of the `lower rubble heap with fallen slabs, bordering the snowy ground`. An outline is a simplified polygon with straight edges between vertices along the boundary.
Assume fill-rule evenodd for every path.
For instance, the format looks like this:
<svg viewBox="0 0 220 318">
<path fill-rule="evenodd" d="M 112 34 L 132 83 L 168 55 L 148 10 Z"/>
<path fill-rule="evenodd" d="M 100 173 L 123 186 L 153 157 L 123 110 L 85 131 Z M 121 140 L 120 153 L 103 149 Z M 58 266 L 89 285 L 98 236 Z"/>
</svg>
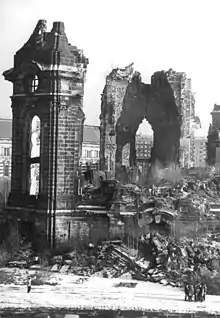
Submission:
<svg viewBox="0 0 220 318">
<path fill-rule="evenodd" d="M 32 257 L 23 264 L 21 255 L 20 261 L 14 260 L 9 264 L 13 267 L 43 269 L 40 258 Z M 121 241 L 108 241 L 99 246 L 90 246 L 84 253 L 73 251 L 53 256 L 47 269 L 84 277 L 133 278 L 182 287 L 186 281 L 195 283 L 207 275 L 212 279 L 220 275 L 219 260 L 218 233 L 210 233 L 197 242 L 189 238 L 177 240 L 151 233 L 140 237 L 137 255 L 132 255 Z"/>
</svg>

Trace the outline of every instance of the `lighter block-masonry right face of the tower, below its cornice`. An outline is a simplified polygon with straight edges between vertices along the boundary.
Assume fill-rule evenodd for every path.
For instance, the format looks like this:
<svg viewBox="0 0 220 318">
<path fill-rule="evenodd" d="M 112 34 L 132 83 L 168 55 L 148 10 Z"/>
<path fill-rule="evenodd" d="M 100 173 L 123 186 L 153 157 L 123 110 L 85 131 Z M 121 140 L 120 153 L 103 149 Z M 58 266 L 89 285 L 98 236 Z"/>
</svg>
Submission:
<svg viewBox="0 0 220 318">
<path fill-rule="evenodd" d="M 79 168 L 81 125 L 84 114 L 80 100 L 74 100 L 59 113 L 57 209 L 71 210 L 75 207 L 75 179 Z"/>
</svg>

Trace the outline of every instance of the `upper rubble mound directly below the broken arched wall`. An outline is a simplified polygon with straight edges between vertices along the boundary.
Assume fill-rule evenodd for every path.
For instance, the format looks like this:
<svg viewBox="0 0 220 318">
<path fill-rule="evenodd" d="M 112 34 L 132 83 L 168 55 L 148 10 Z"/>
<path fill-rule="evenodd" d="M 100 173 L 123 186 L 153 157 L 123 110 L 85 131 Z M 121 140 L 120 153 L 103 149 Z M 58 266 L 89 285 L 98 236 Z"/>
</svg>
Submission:
<svg viewBox="0 0 220 318">
<path fill-rule="evenodd" d="M 120 212 L 146 213 L 165 210 L 179 220 L 214 220 L 211 207 L 220 208 L 220 182 L 218 176 L 210 175 L 200 181 L 196 176 L 185 176 L 175 184 L 161 180 L 157 186 L 148 188 L 135 184 L 120 185 L 117 204 Z"/>
</svg>

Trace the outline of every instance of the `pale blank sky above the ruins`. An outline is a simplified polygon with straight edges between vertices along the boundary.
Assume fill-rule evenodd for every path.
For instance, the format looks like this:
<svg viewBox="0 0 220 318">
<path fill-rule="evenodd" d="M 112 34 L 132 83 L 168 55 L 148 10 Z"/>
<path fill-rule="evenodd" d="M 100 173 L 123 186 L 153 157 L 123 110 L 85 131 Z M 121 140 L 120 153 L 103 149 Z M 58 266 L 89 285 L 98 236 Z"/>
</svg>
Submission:
<svg viewBox="0 0 220 318">
<path fill-rule="evenodd" d="M 84 111 L 99 124 L 100 94 L 112 67 L 134 62 L 142 79 L 159 70 L 184 71 L 196 93 L 203 129 L 220 103 L 219 0 L 0 0 L 0 73 L 39 19 L 65 23 L 69 43 L 89 58 Z M 11 117 L 12 84 L 0 76 L 0 117 Z"/>
</svg>

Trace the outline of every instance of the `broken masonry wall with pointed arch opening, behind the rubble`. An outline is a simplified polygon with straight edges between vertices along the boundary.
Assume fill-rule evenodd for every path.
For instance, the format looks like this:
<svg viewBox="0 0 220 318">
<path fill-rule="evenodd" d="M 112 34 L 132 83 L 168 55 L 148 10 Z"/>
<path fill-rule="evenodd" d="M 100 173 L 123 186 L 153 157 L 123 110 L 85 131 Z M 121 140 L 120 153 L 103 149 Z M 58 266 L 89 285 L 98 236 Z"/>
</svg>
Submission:
<svg viewBox="0 0 220 318">
<path fill-rule="evenodd" d="M 130 64 L 106 78 L 100 115 L 101 169 L 107 165 L 114 172 L 127 148 L 130 166 L 135 165 L 135 136 L 145 118 L 154 132 L 152 161 L 190 166 L 196 120 L 191 80 L 170 69 L 154 73 L 151 84 L 145 84 Z"/>
</svg>

